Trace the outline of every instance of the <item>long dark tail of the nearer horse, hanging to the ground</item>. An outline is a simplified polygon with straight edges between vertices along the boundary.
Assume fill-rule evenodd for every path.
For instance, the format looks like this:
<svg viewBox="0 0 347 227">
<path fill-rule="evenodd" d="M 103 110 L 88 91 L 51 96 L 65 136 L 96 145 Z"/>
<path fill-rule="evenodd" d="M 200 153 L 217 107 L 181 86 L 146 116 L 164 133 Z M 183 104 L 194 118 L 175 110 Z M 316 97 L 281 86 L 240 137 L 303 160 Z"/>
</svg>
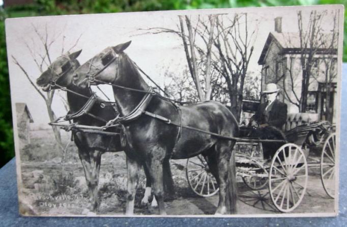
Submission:
<svg viewBox="0 0 347 227">
<path fill-rule="evenodd" d="M 233 141 L 232 148 L 235 145 Z M 235 164 L 235 150 L 232 150 L 232 156 L 230 157 L 228 164 L 228 177 L 227 177 L 227 190 L 226 190 L 226 210 L 229 214 L 235 214 L 237 212 L 237 182 L 236 182 L 236 164 Z"/>
</svg>

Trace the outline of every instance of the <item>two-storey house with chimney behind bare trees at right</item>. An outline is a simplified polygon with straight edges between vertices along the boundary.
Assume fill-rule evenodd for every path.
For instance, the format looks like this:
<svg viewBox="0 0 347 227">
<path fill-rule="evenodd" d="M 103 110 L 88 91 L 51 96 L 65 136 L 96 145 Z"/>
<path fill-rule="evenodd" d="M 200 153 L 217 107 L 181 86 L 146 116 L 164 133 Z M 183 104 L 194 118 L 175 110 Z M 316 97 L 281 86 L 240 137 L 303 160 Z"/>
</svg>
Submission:
<svg viewBox="0 0 347 227">
<path fill-rule="evenodd" d="M 276 83 L 280 88 L 278 99 L 287 104 L 288 113 L 298 113 L 303 75 L 301 65 L 302 61 L 307 61 L 310 49 L 300 47 L 299 33 L 283 33 L 281 21 L 281 17 L 275 18 L 275 32 L 269 33 L 258 60 L 262 65 L 261 91 L 266 84 Z M 314 49 L 311 61 L 307 108 L 300 112 L 317 113 L 319 119 L 335 123 L 337 36 L 322 34 L 317 40 L 322 44 Z M 328 47 L 331 44 L 333 48 Z"/>
</svg>

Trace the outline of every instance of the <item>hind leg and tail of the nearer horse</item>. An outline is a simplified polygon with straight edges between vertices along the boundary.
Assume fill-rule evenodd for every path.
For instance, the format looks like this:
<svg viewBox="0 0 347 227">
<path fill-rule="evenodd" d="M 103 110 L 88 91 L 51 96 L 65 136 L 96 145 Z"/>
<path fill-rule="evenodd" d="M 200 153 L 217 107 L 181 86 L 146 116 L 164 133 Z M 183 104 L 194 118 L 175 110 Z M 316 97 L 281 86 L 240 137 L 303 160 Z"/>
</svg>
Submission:
<svg viewBox="0 0 347 227">
<path fill-rule="evenodd" d="M 235 172 L 230 169 L 230 167 L 233 167 L 233 165 L 229 164 L 230 157 L 232 157 L 232 148 L 234 144 L 234 141 L 219 141 L 216 143 L 219 179 L 219 202 L 215 214 L 236 212 L 236 181 L 231 178 L 231 175 L 235 174 Z M 232 172 L 229 173 L 229 171 Z M 227 195 L 227 193 L 229 192 L 233 194 L 231 198 L 229 194 Z M 226 201 L 227 199 L 228 201 Z"/>
</svg>

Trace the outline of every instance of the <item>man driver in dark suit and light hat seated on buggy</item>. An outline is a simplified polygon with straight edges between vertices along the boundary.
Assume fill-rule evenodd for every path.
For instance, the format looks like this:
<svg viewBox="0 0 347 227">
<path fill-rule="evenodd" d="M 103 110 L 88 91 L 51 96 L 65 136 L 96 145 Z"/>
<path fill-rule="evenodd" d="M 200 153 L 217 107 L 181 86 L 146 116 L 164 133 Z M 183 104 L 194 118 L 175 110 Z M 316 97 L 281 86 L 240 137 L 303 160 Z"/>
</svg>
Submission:
<svg viewBox="0 0 347 227">
<path fill-rule="evenodd" d="M 266 85 L 265 91 L 267 102 L 259 105 L 256 113 L 251 117 L 252 127 L 273 126 L 281 130 L 287 118 L 287 105 L 281 103 L 276 97 L 279 89 L 276 84 Z"/>
</svg>

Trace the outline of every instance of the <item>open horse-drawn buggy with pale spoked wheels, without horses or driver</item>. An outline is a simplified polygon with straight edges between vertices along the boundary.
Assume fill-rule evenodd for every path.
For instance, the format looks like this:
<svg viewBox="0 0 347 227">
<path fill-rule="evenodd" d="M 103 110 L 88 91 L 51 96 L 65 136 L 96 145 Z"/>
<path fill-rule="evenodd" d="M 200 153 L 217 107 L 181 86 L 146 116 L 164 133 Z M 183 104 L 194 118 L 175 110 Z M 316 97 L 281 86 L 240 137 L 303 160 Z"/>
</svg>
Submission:
<svg viewBox="0 0 347 227">
<path fill-rule="evenodd" d="M 234 147 L 237 175 L 251 190 L 268 188 L 273 205 L 281 212 L 291 212 L 299 206 L 310 168 L 320 168 L 324 190 L 329 197 L 335 196 L 336 134 L 328 121 L 311 122 L 315 116 L 288 115 L 284 129 L 289 130 L 282 140 L 252 137 L 255 129 L 241 128 Z M 321 153 L 311 151 L 309 154 L 310 149 L 321 150 Z M 187 160 L 186 176 L 197 195 L 208 197 L 219 190 L 202 156 Z"/>
</svg>

